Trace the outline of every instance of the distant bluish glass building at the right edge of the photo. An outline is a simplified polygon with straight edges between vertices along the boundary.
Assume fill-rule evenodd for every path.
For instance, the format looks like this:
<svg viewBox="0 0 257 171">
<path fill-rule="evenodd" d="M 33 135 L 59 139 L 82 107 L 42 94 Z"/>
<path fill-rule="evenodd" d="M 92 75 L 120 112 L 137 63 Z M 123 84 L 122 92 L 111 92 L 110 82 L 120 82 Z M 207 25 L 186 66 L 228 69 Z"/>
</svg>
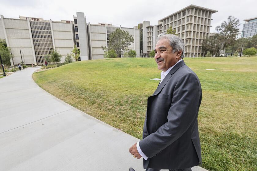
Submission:
<svg viewBox="0 0 257 171">
<path fill-rule="evenodd" d="M 244 20 L 241 38 L 251 38 L 257 34 L 257 17 Z"/>
</svg>

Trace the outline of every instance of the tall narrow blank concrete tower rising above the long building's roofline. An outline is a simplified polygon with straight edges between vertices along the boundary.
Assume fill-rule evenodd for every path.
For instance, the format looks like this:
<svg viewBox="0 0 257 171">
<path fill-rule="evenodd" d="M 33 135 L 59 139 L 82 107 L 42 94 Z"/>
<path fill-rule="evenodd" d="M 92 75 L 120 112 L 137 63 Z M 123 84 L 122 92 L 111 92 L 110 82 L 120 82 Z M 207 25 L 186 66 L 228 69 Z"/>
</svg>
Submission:
<svg viewBox="0 0 257 171">
<path fill-rule="evenodd" d="M 77 26 L 80 43 L 80 60 L 89 60 L 87 21 L 84 13 L 77 12 Z"/>
</svg>

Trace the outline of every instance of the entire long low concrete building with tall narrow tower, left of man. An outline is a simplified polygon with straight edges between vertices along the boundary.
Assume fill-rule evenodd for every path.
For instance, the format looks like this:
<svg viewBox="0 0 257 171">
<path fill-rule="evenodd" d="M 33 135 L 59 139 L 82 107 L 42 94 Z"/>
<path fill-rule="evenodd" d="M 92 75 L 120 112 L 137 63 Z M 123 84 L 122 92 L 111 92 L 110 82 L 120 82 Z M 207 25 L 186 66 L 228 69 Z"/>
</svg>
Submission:
<svg viewBox="0 0 257 171">
<path fill-rule="evenodd" d="M 134 42 L 128 49 L 136 50 L 139 56 L 139 30 L 137 27 L 125 28 L 112 24 L 87 23 L 84 13 L 76 13 L 74 21 L 43 20 L 20 16 L 19 19 L 0 19 L 0 38 L 5 39 L 13 55 L 13 63 L 17 65 L 21 59 L 25 64 L 42 65 L 45 56 L 56 50 L 62 56 L 61 62 L 74 48 L 80 50 L 79 60 L 102 59 L 102 46 L 109 46 L 109 35 L 115 29 L 128 31 Z"/>
</svg>

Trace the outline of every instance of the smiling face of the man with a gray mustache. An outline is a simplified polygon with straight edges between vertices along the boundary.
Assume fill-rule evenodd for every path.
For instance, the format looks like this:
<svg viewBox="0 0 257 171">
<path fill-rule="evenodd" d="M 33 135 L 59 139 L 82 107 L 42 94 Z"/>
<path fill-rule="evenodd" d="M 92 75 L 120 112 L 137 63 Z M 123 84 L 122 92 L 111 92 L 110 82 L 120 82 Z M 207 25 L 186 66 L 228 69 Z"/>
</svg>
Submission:
<svg viewBox="0 0 257 171">
<path fill-rule="evenodd" d="M 169 45 L 167 39 L 161 39 L 155 46 L 155 61 L 158 65 L 158 70 L 167 71 L 181 60 L 182 51 L 173 53 L 173 48 Z"/>
</svg>

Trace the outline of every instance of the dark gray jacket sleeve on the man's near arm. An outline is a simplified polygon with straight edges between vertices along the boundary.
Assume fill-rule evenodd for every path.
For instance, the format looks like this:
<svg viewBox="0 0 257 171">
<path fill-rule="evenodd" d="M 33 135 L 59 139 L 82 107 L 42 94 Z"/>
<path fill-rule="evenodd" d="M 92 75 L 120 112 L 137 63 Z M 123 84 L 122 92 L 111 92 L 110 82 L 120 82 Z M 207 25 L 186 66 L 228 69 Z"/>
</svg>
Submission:
<svg viewBox="0 0 257 171">
<path fill-rule="evenodd" d="M 172 144 L 197 119 L 200 89 L 199 80 L 192 73 L 182 76 L 177 82 L 167 115 L 168 122 L 139 142 L 142 152 L 148 158 Z"/>
</svg>

